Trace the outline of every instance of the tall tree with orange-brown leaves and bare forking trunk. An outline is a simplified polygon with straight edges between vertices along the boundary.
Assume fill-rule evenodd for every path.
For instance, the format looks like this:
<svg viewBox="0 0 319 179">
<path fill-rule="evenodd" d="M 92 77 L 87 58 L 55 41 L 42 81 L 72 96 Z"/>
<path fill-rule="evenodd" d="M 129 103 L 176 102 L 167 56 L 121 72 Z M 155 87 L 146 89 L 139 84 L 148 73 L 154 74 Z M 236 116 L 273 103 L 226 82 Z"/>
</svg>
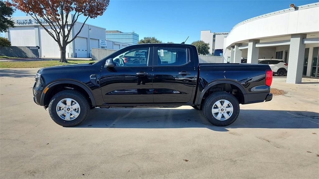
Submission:
<svg viewBox="0 0 319 179">
<path fill-rule="evenodd" d="M 109 2 L 109 0 L 11 0 L 6 3 L 27 13 L 39 23 L 58 43 L 61 51 L 60 62 L 67 62 L 66 46 L 77 38 L 88 18 L 96 18 L 103 14 Z M 72 38 L 72 28 L 81 15 L 86 17 L 85 21 Z"/>
</svg>

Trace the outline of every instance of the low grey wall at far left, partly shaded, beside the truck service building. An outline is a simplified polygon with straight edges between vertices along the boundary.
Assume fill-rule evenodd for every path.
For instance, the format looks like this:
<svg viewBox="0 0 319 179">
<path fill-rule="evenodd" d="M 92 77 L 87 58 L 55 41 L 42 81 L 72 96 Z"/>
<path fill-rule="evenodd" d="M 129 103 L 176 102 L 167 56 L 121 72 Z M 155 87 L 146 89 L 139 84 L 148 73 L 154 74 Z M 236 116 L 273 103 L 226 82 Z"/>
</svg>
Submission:
<svg viewBox="0 0 319 179">
<path fill-rule="evenodd" d="M 38 47 L 2 47 L 0 56 L 20 57 L 20 58 L 39 58 Z"/>
</svg>

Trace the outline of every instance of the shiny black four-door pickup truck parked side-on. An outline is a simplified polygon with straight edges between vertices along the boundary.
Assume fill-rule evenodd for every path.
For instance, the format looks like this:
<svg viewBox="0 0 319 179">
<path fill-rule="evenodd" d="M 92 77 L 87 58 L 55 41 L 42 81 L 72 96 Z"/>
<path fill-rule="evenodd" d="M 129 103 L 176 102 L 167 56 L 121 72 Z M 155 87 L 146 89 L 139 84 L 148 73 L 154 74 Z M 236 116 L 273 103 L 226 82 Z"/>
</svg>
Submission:
<svg viewBox="0 0 319 179">
<path fill-rule="evenodd" d="M 127 61 L 139 54 L 145 60 Z M 226 126 L 238 117 L 239 104 L 270 101 L 271 82 L 268 65 L 199 63 L 192 45 L 139 44 L 97 62 L 40 69 L 33 99 L 62 126 L 79 125 L 94 107 L 182 105 L 203 110 L 213 125 Z"/>
</svg>

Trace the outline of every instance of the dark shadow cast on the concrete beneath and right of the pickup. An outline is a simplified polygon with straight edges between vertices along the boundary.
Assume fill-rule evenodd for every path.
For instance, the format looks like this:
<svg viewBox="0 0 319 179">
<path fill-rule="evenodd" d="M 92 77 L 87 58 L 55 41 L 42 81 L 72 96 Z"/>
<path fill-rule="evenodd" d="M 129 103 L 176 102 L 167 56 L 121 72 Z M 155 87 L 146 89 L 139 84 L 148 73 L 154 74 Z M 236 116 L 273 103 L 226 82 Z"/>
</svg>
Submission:
<svg viewBox="0 0 319 179">
<path fill-rule="evenodd" d="M 228 131 L 231 128 L 319 128 L 319 113 L 309 111 L 241 110 L 228 126 L 211 125 L 202 111 L 195 109 L 130 108 L 90 111 L 78 128 L 208 128 Z"/>
</svg>

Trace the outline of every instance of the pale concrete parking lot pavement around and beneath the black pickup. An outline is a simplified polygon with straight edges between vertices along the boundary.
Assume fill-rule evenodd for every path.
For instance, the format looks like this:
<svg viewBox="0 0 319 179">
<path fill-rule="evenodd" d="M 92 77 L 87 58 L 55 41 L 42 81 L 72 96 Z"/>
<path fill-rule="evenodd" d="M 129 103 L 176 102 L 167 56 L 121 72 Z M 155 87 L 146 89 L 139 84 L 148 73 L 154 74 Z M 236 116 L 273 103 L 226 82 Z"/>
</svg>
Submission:
<svg viewBox="0 0 319 179">
<path fill-rule="evenodd" d="M 1 69 L 0 178 L 318 178 L 319 80 L 241 105 L 229 126 L 190 106 L 100 109 L 76 127 L 32 99 L 36 68 Z"/>
</svg>

